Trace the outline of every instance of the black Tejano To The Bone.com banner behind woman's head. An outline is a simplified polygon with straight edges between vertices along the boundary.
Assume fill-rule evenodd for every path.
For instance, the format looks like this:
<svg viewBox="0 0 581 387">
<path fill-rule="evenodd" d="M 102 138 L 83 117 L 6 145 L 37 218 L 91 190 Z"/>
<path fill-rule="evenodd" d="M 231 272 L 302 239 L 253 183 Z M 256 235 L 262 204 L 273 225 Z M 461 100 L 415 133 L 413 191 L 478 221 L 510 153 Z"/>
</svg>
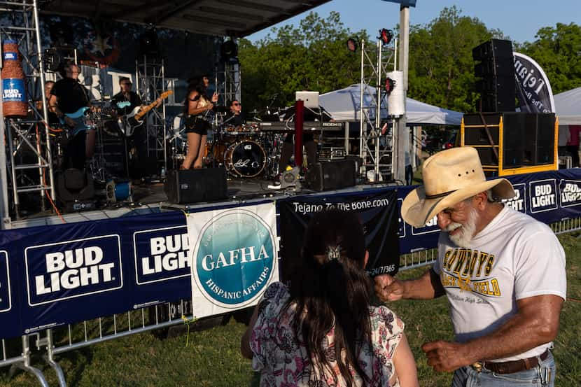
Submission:
<svg viewBox="0 0 581 387">
<path fill-rule="evenodd" d="M 370 190 L 337 195 L 310 195 L 277 202 L 280 213 L 281 273 L 283 279 L 295 270 L 295 257 L 300 255 L 304 232 L 314 213 L 324 209 L 357 211 L 365 230 L 369 261 L 365 270 L 370 276 L 395 274 L 399 269 L 397 193 Z"/>
</svg>

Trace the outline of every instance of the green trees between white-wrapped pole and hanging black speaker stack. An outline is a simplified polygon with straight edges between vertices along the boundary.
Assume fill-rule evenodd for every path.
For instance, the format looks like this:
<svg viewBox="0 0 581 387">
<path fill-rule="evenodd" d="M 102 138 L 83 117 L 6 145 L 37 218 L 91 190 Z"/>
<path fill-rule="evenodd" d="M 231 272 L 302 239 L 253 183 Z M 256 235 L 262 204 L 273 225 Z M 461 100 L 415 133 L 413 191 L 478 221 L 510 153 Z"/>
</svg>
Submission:
<svg viewBox="0 0 581 387">
<path fill-rule="evenodd" d="M 409 29 L 408 96 L 456 111 L 477 108 L 472 48 L 502 32 L 487 29 L 476 17 L 444 8 L 427 25 Z"/>
</svg>

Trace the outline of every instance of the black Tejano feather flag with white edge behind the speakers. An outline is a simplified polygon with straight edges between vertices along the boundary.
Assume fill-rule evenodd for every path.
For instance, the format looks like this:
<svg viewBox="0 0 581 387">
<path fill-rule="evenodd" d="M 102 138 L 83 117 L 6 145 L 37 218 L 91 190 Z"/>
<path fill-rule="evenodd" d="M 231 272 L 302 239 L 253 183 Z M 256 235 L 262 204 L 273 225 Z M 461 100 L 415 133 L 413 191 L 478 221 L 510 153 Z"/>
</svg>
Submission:
<svg viewBox="0 0 581 387">
<path fill-rule="evenodd" d="M 513 52 L 514 80 L 520 111 L 526 113 L 554 113 L 555 102 L 549 79 L 531 57 Z"/>
</svg>

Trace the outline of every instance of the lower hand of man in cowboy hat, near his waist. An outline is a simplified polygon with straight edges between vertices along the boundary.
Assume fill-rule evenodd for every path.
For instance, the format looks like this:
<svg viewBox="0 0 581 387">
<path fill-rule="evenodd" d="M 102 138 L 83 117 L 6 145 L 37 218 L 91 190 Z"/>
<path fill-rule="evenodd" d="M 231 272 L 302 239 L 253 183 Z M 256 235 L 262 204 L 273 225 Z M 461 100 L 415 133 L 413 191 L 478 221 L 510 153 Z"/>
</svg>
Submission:
<svg viewBox="0 0 581 387">
<path fill-rule="evenodd" d="M 421 346 L 421 350 L 426 353 L 428 365 L 431 365 L 437 372 L 452 372 L 473 362 L 464 353 L 465 346 L 455 342 L 427 342 Z"/>
</svg>

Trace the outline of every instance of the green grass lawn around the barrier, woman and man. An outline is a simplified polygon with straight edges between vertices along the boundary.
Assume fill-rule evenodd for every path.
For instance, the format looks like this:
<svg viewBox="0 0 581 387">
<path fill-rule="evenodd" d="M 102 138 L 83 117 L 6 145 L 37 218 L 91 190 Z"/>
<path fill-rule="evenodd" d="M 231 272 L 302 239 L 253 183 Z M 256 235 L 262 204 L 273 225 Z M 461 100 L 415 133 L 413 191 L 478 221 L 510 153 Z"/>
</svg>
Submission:
<svg viewBox="0 0 581 387">
<path fill-rule="evenodd" d="M 555 342 L 555 386 L 577 387 L 581 382 L 581 235 L 565 234 L 559 239 L 567 255 L 570 300 L 564 304 Z M 416 276 L 424 269 L 399 275 Z M 406 323 L 420 386 L 449 386 L 451 374 L 434 372 L 420 350 L 423 342 L 452 338 L 445 297 L 388 306 Z M 169 339 L 144 333 L 71 351 L 57 360 L 69 387 L 258 386 L 250 361 L 239 354 L 239 339 L 245 329 L 244 324 L 231 319 L 226 325 L 190 332 L 188 346 L 185 333 Z M 58 385 L 55 372 L 41 359 L 34 359 L 34 365 L 43 370 L 50 386 Z M 8 368 L 0 369 L 0 387 L 38 385 L 29 374 L 18 371 L 10 378 Z"/>
</svg>

